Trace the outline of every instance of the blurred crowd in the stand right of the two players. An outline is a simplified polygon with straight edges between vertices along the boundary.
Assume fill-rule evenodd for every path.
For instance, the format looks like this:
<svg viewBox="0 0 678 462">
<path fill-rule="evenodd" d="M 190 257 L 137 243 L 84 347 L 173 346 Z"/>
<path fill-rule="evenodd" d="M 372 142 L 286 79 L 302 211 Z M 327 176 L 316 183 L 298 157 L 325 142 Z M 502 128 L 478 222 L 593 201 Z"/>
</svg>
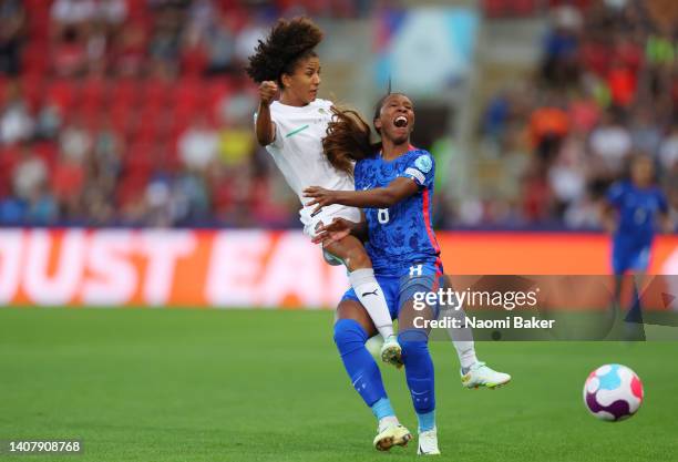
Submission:
<svg viewBox="0 0 678 462">
<path fill-rule="evenodd" d="M 678 22 L 649 2 L 589 3 L 554 8 L 534 76 L 487 104 L 484 144 L 515 182 L 469 224 L 597 228 L 634 155 L 678 208 Z"/>
</svg>

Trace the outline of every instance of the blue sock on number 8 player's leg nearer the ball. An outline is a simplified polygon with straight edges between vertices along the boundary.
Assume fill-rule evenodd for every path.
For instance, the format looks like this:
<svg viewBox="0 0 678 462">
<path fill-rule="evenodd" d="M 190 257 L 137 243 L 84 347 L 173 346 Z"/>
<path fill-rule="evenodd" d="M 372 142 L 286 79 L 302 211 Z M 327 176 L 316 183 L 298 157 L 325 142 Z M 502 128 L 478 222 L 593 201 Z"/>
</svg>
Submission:
<svg viewBox="0 0 678 462">
<path fill-rule="evenodd" d="M 419 419 L 419 431 L 435 427 L 435 387 L 429 338 L 423 330 L 409 329 L 398 336 L 402 348 L 405 377 L 412 404 Z"/>
</svg>

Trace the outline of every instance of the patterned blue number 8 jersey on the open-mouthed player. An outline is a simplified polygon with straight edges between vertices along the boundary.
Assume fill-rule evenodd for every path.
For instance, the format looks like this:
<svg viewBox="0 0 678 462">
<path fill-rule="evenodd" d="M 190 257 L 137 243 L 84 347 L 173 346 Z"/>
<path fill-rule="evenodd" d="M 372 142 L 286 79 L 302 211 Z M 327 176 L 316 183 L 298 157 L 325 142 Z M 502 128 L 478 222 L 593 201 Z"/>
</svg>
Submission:
<svg viewBox="0 0 678 462">
<path fill-rule="evenodd" d="M 423 150 L 411 148 L 393 161 L 380 154 L 356 164 L 356 189 L 386 187 L 399 176 L 412 178 L 417 194 L 389 208 L 366 208 L 369 230 L 366 249 L 379 275 L 403 275 L 414 265 L 433 264 L 442 273 L 440 247 L 431 226 L 435 163 Z"/>
</svg>

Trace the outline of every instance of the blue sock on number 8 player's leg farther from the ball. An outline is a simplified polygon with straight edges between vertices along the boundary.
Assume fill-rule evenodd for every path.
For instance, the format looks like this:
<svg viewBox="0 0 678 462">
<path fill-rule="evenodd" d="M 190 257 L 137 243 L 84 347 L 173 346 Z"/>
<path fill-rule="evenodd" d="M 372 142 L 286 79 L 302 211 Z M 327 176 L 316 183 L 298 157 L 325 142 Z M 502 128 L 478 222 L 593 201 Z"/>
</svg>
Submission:
<svg viewBox="0 0 678 462">
<path fill-rule="evenodd" d="M 367 405 L 372 407 L 381 399 L 387 399 L 379 366 L 374 362 L 372 355 L 364 348 L 367 332 L 353 319 L 339 319 L 335 324 L 335 343 L 341 355 L 343 367 L 348 372 L 351 383 Z M 390 403 L 388 404 L 390 409 Z M 383 412 L 384 404 L 380 404 Z M 391 413 L 392 413 L 391 409 Z"/>
</svg>

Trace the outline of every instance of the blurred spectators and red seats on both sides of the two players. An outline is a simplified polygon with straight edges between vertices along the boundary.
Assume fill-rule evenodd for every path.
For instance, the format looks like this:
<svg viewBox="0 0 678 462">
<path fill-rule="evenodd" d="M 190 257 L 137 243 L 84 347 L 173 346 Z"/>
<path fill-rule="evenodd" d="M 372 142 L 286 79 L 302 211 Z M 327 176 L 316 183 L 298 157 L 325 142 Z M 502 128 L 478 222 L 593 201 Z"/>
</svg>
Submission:
<svg viewBox="0 0 678 462">
<path fill-rule="evenodd" d="M 678 201 L 675 30 L 640 2 L 584 3 L 553 10 L 540 72 L 486 107 L 482 136 L 516 187 L 480 214 L 439 204 L 441 226 L 596 227 L 634 152 Z M 256 145 L 243 64 L 280 16 L 370 8 L 0 0 L 0 224 L 298 226 L 297 198 Z"/>
</svg>

